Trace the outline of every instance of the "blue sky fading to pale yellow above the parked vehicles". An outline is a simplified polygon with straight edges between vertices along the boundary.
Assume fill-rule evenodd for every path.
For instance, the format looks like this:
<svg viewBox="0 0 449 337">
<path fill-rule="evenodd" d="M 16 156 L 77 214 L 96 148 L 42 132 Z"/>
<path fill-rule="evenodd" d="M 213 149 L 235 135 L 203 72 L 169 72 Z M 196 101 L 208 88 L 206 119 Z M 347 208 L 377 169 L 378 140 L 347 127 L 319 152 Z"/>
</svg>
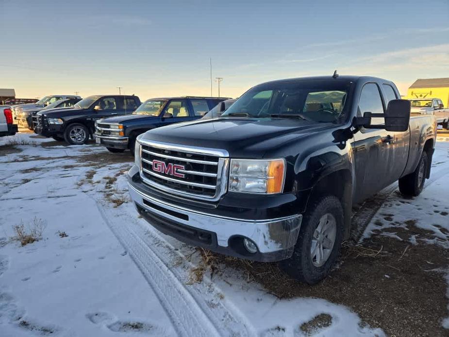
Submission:
<svg viewBox="0 0 449 337">
<path fill-rule="evenodd" d="M 334 69 L 402 94 L 449 77 L 449 0 L 0 0 L 0 32 L 0 87 L 19 97 L 210 95 L 210 56 L 229 97 Z"/>
</svg>

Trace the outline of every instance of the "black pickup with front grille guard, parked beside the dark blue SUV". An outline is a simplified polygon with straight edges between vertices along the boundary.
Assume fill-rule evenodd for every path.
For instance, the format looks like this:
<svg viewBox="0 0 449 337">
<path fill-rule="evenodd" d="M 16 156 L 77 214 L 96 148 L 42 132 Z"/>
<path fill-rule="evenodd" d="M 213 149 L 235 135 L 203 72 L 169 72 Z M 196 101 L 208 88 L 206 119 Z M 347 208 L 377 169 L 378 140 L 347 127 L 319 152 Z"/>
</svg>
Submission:
<svg viewBox="0 0 449 337">
<path fill-rule="evenodd" d="M 140 105 L 137 96 L 95 95 L 72 108 L 42 110 L 33 121 L 34 133 L 69 144 L 84 144 L 95 132 L 95 121 L 114 115 L 131 114 Z M 123 133 L 117 131 L 117 135 Z"/>
</svg>

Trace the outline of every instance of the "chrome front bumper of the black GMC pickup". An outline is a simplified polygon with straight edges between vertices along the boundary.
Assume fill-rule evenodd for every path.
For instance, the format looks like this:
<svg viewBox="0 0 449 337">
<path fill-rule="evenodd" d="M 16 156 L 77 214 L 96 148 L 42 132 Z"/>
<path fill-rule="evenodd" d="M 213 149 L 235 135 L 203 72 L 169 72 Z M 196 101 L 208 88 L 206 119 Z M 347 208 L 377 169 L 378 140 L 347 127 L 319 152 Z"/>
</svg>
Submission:
<svg viewBox="0 0 449 337">
<path fill-rule="evenodd" d="M 155 214 L 158 218 L 167 219 L 170 223 L 175 223 L 177 226 L 185 225 L 186 228 L 197 228 L 215 234 L 215 247 L 202 245 L 200 241 L 193 242 L 193 244 L 204 246 L 218 253 L 257 261 L 278 261 L 291 256 L 298 239 L 302 220 L 301 214 L 262 220 L 219 217 L 213 214 L 189 210 L 178 205 L 167 204 L 141 192 L 131 184 L 129 184 L 129 192 L 139 213 L 145 210 L 145 212 Z M 158 221 L 147 220 L 154 227 L 161 229 L 160 223 L 153 223 Z M 163 229 L 161 231 L 166 232 Z M 182 237 L 180 238 L 170 233 L 166 234 L 183 241 Z M 256 244 L 258 253 L 242 253 L 241 249 L 233 244 L 236 240 L 235 238 L 249 238 Z M 192 241 L 187 243 L 192 243 Z"/>
</svg>

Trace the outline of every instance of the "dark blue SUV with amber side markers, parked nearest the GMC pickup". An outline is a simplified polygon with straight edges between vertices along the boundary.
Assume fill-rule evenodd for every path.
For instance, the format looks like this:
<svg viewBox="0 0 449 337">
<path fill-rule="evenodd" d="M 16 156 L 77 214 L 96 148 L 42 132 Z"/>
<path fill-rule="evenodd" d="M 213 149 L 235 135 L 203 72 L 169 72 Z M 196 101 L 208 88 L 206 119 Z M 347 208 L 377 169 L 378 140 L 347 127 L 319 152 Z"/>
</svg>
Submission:
<svg viewBox="0 0 449 337">
<path fill-rule="evenodd" d="M 97 144 L 111 152 L 130 149 L 134 153 L 138 135 L 160 126 L 201 118 L 224 100 L 226 98 L 187 96 L 153 98 L 143 102 L 132 115 L 98 120 L 94 137 Z"/>
</svg>

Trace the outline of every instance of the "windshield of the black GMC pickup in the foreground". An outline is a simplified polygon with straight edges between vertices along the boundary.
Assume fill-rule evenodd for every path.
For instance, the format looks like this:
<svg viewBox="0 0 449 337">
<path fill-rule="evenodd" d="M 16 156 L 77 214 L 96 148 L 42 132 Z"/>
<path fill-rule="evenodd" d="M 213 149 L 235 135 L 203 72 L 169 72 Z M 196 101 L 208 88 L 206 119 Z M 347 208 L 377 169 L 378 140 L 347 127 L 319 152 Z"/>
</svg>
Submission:
<svg viewBox="0 0 449 337">
<path fill-rule="evenodd" d="M 342 115 L 350 85 L 348 81 L 336 80 L 261 84 L 249 89 L 222 117 L 332 122 Z"/>
</svg>

